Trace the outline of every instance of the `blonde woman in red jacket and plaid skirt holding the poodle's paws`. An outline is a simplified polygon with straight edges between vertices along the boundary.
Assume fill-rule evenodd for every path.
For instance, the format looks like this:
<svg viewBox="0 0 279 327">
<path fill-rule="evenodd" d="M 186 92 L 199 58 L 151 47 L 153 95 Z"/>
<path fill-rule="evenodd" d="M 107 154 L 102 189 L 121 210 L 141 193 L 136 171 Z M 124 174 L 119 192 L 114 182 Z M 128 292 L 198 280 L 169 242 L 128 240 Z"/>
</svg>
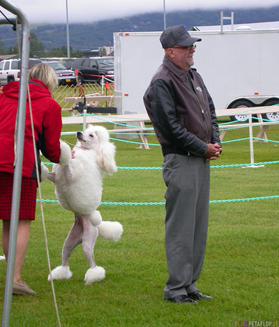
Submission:
<svg viewBox="0 0 279 327">
<path fill-rule="evenodd" d="M 21 279 L 22 265 L 29 243 L 30 223 L 31 220 L 35 220 L 37 189 L 35 155 L 38 158 L 39 169 L 39 151 L 43 153 L 45 158 L 52 162 L 59 162 L 62 165 L 66 165 L 70 158 L 70 147 L 63 142 L 59 142 L 62 127 L 61 107 L 52 98 L 52 91 L 56 86 L 57 78 L 50 66 L 39 63 L 30 70 L 29 92 L 36 153 L 33 150 L 29 100 L 27 97 L 13 294 L 27 295 L 36 293 Z M 19 82 L 10 82 L 3 87 L 3 93 L 0 94 L 0 219 L 3 220 L 2 247 L 6 258 L 8 258 L 10 210 L 13 192 L 15 119 L 18 93 Z"/>
</svg>

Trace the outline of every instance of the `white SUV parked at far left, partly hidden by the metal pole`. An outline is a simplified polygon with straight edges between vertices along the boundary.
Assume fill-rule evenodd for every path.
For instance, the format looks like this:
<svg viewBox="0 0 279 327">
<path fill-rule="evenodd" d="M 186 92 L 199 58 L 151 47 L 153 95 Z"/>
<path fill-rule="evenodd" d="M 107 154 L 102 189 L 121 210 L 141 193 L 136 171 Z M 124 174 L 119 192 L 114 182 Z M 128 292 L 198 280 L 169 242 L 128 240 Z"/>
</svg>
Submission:
<svg viewBox="0 0 279 327">
<path fill-rule="evenodd" d="M 40 59 L 29 59 L 28 67 L 32 68 Z M 8 59 L 0 62 L 0 84 L 6 85 L 9 82 L 20 80 L 20 59 Z"/>
</svg>

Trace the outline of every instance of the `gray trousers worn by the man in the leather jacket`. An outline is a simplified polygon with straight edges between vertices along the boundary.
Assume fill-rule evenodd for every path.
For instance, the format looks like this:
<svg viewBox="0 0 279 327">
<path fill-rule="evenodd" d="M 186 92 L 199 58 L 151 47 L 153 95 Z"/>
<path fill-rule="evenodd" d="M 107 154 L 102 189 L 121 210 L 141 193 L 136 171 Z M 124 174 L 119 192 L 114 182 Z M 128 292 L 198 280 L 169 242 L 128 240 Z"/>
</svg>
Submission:
<svg viewBox="0 0 279 327">
<path fill-rule="evenodd" d="M 165 251 L 169 278 L 164 298 L 197 290 L 209 220 L 209 162 L 193 155 L 164 156 Z"/>
</svg>

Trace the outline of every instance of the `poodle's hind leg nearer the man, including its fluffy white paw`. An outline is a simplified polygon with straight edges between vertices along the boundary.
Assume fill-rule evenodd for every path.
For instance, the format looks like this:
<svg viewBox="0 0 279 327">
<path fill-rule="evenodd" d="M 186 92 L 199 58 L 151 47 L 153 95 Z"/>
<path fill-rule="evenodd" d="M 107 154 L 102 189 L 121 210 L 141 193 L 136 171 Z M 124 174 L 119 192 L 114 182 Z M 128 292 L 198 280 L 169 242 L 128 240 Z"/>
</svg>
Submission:
<svg viewBox="0 0 279 327">
<path fill-rule="evenodd" d="M 91 224 L 88 217 L 82 217 L 82 222 L 82 250 L 90 265 L 90 268 L 88 269 L 88 271 L 86 271 L 86 274 L 84 276 L 84 282 L 85 284 L 91 284 L 93 282 L 98 282 L 105 278 L 105 269 L 96 266 L 93 257 L 93 248 L 98 237 L 98 228 Z"/>
</svg>

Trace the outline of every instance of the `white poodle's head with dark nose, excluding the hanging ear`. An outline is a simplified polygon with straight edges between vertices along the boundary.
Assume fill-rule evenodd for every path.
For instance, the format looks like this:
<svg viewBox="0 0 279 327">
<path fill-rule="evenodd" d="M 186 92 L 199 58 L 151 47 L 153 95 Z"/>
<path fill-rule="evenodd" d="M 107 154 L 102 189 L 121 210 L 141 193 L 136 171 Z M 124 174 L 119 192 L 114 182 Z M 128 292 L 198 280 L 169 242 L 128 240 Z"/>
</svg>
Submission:
<svg viewBox="0 0 279 327">
<path fill-rule="evenodd" d="M 99 144 L 110 142 L 110 135 L 103 126 L 89 125 L 84 132 L 77 132 L 77 140 L 82 148 L 93 150 Z"/>
</svg>

